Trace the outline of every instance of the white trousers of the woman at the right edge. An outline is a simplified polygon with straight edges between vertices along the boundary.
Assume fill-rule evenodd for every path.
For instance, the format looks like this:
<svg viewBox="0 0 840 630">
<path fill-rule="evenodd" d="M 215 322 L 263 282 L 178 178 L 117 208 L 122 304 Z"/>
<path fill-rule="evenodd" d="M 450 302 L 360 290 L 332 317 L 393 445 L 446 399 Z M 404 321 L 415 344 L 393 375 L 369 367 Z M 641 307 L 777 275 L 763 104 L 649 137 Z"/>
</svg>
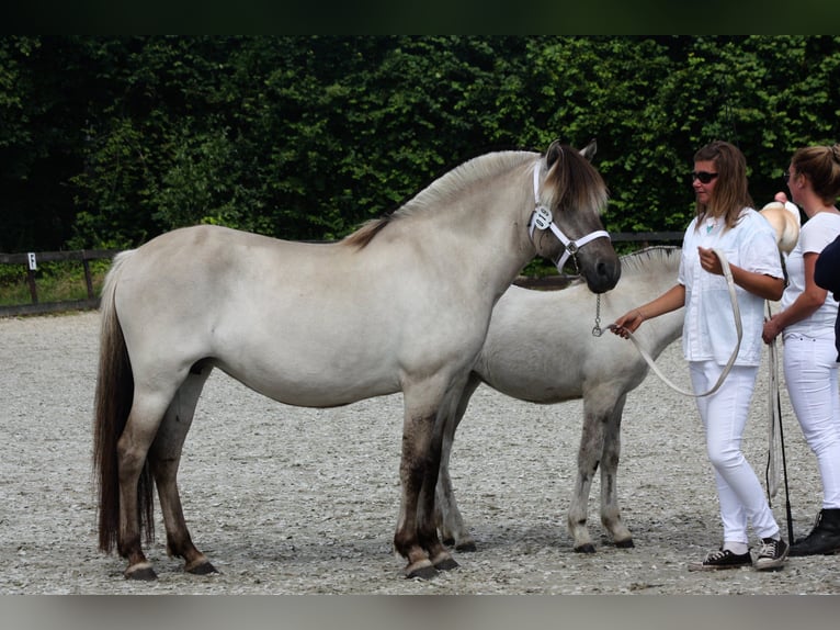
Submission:
<svg viewBox="0 0 840 630">
<path fill-rule="evenodd" d="M 817 455 L 822 507 L 840 508 L 840 394 L 833 339 L 784 337 L 784 378 L 808 447 Z"/>
</svg>

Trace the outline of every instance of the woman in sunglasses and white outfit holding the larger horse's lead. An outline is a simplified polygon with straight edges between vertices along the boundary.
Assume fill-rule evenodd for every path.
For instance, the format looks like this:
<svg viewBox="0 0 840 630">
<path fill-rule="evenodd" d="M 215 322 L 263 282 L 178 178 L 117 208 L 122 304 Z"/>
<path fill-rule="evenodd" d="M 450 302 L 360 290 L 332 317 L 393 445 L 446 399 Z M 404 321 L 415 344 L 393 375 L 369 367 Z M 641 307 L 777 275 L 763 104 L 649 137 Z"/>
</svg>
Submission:
<svg viewBox="0 0 840 630">
<path fill-rule="evenodd" d="M 736 284 L 742 339 L 722 386 L 714 394 L 696 398 L 717 482 L 724 537 L 718 550 L 689 570 L 749 565 L 759 571 L 781 569 L 787 558 L 787 543 L 740 449 L 761 363 L 764 301 L 779 300 L 784 290 L 775 233 L 752 209 L 747 164 L 737 147 L 725 142 L 706 145 L 694 155 L 691 175 L 696 216 L 683 237 L 678 282 L 616 319 L 613 331 L 627 338 L 645 319 L 685 306 L 683 355 L 694 392 L 708 392 L 738 341 L 727 281 L 714 249 L 726 256 Z M 749 550 L 749 522 L 761 539 L 754 561 Z"/>
</svg>

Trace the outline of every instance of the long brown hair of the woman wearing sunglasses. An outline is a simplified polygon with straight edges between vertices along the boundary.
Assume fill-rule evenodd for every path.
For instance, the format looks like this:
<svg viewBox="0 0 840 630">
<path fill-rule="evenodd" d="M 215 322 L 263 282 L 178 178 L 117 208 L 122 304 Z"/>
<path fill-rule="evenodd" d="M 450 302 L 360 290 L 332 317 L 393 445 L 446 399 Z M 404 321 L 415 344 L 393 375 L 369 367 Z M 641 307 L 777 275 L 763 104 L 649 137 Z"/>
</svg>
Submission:
<svg viewBox="0 0 840 630">
<path fill-rule="evenodd" d="M 752 198 L 747 190 L 747 158 L 735 145 L 715 140 L 695 153 L 694 161 L 713 161 L 717 172 L 712 199 L 708 203 L 697 202 L 697 216 L 722 216 L 727 228 L 735 227 L 741 210 L 752 207 Z"/>
</svg>

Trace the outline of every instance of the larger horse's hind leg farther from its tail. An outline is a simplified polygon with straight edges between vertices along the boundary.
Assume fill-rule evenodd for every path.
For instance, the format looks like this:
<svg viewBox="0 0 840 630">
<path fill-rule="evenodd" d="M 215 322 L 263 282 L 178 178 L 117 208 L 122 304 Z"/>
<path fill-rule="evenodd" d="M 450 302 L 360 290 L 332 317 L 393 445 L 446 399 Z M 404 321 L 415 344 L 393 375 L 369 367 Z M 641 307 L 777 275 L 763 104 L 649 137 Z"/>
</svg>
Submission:
<svg viewBox="0 0 840 630">
<path fill-rule="evenodd" d="M 198 551 L 190 537 L 178 492 L 178 466 L 181 462 L 186 434 L 192 425 L 202 387 L 212 372 L 211 367 L 194 367 L 175 393 L 155 443 L 149 451 L 149 464 L 158 486 L 160 509 L 167 529 L 167 553 L 184 560 L 184 571 L 205 575 L 216 573 L 207 558 Z"/>
</svg>

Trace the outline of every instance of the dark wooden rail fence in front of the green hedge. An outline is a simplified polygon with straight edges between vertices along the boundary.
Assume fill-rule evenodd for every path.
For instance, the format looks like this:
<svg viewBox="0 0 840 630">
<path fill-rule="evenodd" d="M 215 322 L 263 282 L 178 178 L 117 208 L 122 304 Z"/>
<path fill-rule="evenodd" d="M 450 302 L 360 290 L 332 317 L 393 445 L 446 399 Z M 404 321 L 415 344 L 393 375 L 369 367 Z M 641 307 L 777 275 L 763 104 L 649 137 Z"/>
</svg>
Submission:
<svg viewBox="0 0 840 630">
<path fill-rule="evenodd" d="M 640 232 L 612 234 L 613 243 L 639 243 L 654 245 L 660 243 L 681 243 L 682 232 Z M 26 268 L 26 282 L 30 288 L 30 302 L 26 304 L 0 305 L 0 317 L 19 315 L 44 315 L 63 311 L 84 311 L 99 307 L 99 296 L 93 290 L 93 278 L 90 270 L 91 260 L 112 259 L 118 250 L 115 249 L 82 249 L 77 251 L 41 251 L 29 254 L 0 254 L 0 265 L 22 265 Z M 86 300 L 65 302 L 41 302 L 36 280 L 37 265 L 41 262 L 79 261 L 84 270 L 84 282 L 88 290 Z M 561 289 L 570 282 L 567 275 L 548 275 L 543 278 L 520 277 L 515 284 L 536 289 Z"/>
</svg>

